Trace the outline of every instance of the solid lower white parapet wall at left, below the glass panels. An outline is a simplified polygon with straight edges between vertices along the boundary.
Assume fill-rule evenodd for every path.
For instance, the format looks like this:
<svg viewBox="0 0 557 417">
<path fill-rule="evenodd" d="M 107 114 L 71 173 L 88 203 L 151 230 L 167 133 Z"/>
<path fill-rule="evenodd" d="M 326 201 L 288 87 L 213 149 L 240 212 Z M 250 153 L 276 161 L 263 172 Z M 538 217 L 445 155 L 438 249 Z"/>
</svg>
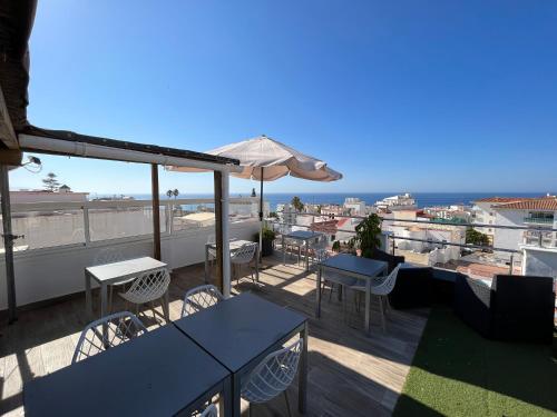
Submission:
<svg viewBox="0 0 557 417">
<path fill-rule="evenodd" d="M 258 221 L 247 220 L 229 225 L 232 238 L 252 240 Z M 205 242 L 214 228 L 183 230 L 162 238 L 163 261 L 174 268 L 204 261 Z M 153 236 L 104 240 L 69 247 L 45 248 L 14 254 L 16 294 L 18 306 L 47 300 L 85 289 L 84 269 L 94 265 L 101 248 L 118 247 L 126 257 L 152 256 Z M 0 310 L 8 307 L 4 258 L 0 259 Z M 85 308 L 85 297 L 84 297 Z"/>
</svg>

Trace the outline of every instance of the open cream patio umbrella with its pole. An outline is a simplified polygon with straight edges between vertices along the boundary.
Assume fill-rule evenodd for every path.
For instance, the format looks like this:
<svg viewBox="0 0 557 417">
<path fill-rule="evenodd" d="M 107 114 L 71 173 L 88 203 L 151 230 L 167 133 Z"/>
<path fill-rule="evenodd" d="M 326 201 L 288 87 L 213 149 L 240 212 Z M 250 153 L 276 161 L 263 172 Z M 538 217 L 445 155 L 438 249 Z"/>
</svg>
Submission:
<svg viewBox="0 0 557 417">
<path fill-rule="evenodd" d="M 328 167 L 326 162 L 306 156 L 297 150 L 262 135 L 257 138 L 225 145 L 205 153 L 240 160 L 241 172 L 234 177 L 261 181 L 260 190 L 260 248 L 263 231 L 263 181 L 274 181 L 287 175 L 312 181 L 336 181 L 342 173 Z M 167 167 L 168 170 L 199 172 L 187 167 Z"/>
</svg>

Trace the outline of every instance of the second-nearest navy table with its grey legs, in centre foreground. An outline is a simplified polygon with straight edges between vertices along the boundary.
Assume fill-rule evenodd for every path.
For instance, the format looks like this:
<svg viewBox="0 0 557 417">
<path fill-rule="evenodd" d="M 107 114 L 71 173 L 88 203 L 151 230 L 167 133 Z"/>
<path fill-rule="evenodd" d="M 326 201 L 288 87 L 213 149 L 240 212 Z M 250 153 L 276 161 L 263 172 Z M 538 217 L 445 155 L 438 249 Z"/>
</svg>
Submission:
<svg viewBox="0 0 557 417">
<path fill-rule="evenodd" d="M 248 292 L 174 321 L 232 373 L 233 416 L 240 416 L 242 377 L 295 334 L 303 338 L 299 409 L 306 410 L 307 318 Z"/>
</svg>

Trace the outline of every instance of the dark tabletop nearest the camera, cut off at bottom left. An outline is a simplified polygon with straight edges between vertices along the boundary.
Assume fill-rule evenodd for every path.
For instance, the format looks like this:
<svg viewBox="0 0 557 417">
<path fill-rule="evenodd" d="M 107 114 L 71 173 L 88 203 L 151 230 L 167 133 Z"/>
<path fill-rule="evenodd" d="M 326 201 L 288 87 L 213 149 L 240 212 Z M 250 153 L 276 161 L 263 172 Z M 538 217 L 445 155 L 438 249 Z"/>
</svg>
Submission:
<svg viewBox="0 0 557 417">
<path fill-rule="evenodd" d="M 229 371 L 169 325 L 29 381 L 27 416 L 169 416 Z"/>
</svg>

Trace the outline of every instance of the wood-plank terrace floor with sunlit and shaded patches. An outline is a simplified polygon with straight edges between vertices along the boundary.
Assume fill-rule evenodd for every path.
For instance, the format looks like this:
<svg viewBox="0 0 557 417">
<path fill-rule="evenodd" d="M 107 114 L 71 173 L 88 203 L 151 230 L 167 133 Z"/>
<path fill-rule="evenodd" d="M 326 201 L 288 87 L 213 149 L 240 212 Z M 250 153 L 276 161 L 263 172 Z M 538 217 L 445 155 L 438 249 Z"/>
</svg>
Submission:
<svg viewBox="0 0 557 417">
<path fill-rule="evenodd" d="M 203 267 L 173 272 L 170 318 L 180 315 L 184 292 L 203 281 Z M 314 318 L 315 274 L 295 264 L 265 258 L 260 284 L 243 279 L 234 292 L 252 291 L 310 317 L 309 416 L 388 416 L 402 389 L 414 350 L 427 321 L 427 310 L 389 311 L 387 331 L 372 316 L 373 332 L 362 330 L 363 312 L 352 308 L 348 317 L 335 297 L 322 305 Z M 94 298 L 94 301 L 98 301 Z M 140 314 L 150 328 L 163 324 L 146 309 Z M 80 330 L 87 324 L 85 296 L 25 311 L 19 320 L 0 327 L 0 414 L 22 415 L 23 384 L 69 366 Z M 295 408 L 296 387 L 290 390 Z M 286 415 L 283 398 L 255 407 L 256 416 Z"/>
</svg>

